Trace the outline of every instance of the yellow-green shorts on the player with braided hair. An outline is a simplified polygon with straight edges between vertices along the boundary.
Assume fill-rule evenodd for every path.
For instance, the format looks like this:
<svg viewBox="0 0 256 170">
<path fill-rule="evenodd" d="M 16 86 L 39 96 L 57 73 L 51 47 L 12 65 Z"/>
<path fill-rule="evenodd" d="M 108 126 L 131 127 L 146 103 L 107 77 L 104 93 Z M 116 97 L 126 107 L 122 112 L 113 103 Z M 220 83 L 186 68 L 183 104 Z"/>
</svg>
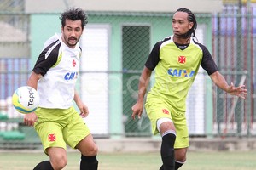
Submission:
<svg viewBox="0 0 256 170">
<path fill-rule="evenodd" d="M 157 120 L 163 117 L 170 118 L 176 128 L 174 148 L 178 149 L 189 147 L 189 131 L 185 112 L 175 111 L 172 105 L 167 104 L 164 99 L 158 98 L 150 98 L 147 100 L 145 109 L 151 122 L 152 133 L 159 133 L 156 127 Z"/>
</svg>

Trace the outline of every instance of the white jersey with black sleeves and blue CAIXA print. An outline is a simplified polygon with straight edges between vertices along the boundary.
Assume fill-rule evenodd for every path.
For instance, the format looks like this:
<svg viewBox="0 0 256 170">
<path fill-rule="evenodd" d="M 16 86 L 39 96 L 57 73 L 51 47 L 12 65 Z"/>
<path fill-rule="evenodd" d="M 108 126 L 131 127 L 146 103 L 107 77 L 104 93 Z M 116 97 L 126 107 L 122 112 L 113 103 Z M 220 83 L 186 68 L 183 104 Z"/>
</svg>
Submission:
<svg viewBox="0 0 256 170">
<path fill-rule="evenodd" d="M 69 48 L 55 35 L 44 44 L 33 69 L 38 81 L 39 107 L 67 109 L 73 105 L 75 82 L 79 75 L 81 48 Z"/>
</svg>

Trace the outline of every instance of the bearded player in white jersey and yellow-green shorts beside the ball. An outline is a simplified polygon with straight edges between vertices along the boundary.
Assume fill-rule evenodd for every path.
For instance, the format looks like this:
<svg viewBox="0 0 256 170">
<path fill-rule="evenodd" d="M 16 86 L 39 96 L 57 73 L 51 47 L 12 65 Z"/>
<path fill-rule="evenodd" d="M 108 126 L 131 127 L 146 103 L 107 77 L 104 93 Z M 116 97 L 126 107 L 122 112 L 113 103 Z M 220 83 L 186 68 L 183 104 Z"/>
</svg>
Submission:
<svg viewBox="0 0 256 170">
<path fill-rule="evenodd" d="M 24 122 L 34 126 L 44 153 L 49 156 L 49 161 L 38 163 L 34 170 L 63 169 L 67 165 L 66 144 L 81 152 L 78 169 L 97 170 L 98 148 L 82 119 L 89 110 L 75 91 L 82 53 L 79 39 L 87 24 L 87 14 L 81 8 L 70 8 L 60 19 L 61 35 L 55 34 L 44 43 L 27 81 L 28 86 L 38 90 L 40 102 L 35 113 L 25 115 Z"/>
</svg>

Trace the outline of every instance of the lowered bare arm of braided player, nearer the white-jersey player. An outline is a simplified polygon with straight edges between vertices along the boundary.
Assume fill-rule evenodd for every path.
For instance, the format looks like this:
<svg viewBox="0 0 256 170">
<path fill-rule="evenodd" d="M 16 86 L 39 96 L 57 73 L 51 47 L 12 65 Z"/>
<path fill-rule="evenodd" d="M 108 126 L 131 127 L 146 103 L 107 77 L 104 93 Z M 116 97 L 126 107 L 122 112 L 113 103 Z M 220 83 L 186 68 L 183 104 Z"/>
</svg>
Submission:
<svg viewBox="0 0 256 170">
<path fill-rule="evenodd" d="M 143 113 L 143 99 L 146 94 L 147 88 L 148 88 L 148 82 L 150 80 L 152 71 L 150 71 L 147 67 L 144 67 L 142 75 L 139 80 L 138 85 L 138 97 L 137 97 L 137 103 L 131 107 L 132 110 L 132 119 L 135 119 L 136 115 L 138 118 L 141 118 Z"/>
</svg>

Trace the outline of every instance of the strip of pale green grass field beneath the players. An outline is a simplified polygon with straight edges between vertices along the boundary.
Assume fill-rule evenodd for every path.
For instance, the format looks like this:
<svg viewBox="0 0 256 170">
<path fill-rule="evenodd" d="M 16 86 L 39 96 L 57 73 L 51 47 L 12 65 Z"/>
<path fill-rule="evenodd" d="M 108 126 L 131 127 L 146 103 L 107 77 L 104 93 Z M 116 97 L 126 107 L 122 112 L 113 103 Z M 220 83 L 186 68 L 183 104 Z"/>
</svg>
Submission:
<svg viewBox="0 0 256 170">
<path fill-rule="evenodd" d="M 28 150 L 29 151 L 29 150 Z M 79 170 L 79 152 L 68 152 L 65 170 Z M 0 152 L 1 170 L 32 170 L 39 161 L 47 160 L 42 152 Z M 158 170 L 159 153 L 99 153 L 99 170 Z M 181 170 L 256 170 L 256 152 L 189 151 Z"/>
</svg>

